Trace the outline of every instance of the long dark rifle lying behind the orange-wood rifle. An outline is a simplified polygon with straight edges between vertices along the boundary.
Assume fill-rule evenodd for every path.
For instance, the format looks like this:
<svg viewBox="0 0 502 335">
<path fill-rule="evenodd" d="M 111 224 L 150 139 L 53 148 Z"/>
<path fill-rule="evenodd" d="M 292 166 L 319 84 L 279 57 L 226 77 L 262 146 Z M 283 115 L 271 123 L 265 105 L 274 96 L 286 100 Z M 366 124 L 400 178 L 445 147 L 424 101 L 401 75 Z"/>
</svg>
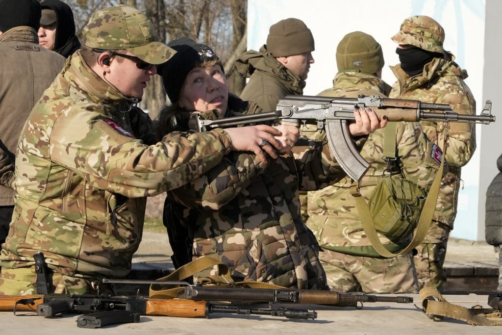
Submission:
<svg viewBox="0 0 502 335">
<path fill-rule="evenodd" d="M 394 302 L 412 303 L 413 297 L 385 296 L 340 293 L 336 291 L 305 290 L 291 288 L 248 288 L 190 285 L 187 282 L 132 280 L 132 279 L 102 279 L 103 283 L 120 284 L 153 284 L 153 285 L 185 285 L 178 288 L 177 297 L 190 300 L 231 301 L 231 302 L 268 302 L 268 303 L 299 303 L 319 304 L 336 307 L 358 307 L 364 302 Z"/>
</svg>

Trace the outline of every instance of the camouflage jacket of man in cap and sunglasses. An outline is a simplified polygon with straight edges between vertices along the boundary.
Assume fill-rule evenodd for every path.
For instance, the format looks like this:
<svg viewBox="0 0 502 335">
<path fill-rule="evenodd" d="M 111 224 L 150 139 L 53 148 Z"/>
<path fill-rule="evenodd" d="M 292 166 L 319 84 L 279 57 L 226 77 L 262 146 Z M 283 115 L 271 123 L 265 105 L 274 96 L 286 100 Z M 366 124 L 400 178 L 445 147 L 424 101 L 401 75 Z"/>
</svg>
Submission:
<svg viewBox="0 0 502 335">
<path fill-rule="evenodd" d="M 131 104 L 78 51 L 67 60 L 22 131 L 3 268 L 31 267 L 42 251 L 64 275 L 128 274 L 145 197 L 182 186 L 230 150 L 222 130 L 148 146 L 130 130 L 141 129 L 130 124 Z"/>
</svg>

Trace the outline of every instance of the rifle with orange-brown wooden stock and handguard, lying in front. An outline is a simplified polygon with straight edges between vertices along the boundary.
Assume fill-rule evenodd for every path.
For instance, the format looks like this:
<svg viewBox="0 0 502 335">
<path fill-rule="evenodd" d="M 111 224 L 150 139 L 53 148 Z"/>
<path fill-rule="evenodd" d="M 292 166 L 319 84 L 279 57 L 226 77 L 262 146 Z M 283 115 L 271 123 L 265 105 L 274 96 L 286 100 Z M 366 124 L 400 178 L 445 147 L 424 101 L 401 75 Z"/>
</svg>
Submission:
<svg viewBox="0 0 502 335">
<path fill-rule="evenodd" d="M 315 319 L 317 312 L 285 307 L 251 308 L 207 301 L 184 299 L 149 299 L 142 297 L 112 297 L 108 295 L 46 294 L 28 296 L 0 295 L 0 311 L 36 311 L 50 317 L 60 313 L 92 313 L 79 318 L 80 327 L 95 327 L 117 322 L 138 322 L 134 313 L 178 317 L 208 317 L 212 313 L 283 316 L 289 319 Z M 124 312 L 129 311 L 129 312 Z M 98 312 L 98 313 L 93 313 Z M 126 317 L 128 316 L 128 317 Z M 126 317 L 126 318 L 124 318 Z M 121 321 L 120 321 L 121 320 Z"/>
</svg>

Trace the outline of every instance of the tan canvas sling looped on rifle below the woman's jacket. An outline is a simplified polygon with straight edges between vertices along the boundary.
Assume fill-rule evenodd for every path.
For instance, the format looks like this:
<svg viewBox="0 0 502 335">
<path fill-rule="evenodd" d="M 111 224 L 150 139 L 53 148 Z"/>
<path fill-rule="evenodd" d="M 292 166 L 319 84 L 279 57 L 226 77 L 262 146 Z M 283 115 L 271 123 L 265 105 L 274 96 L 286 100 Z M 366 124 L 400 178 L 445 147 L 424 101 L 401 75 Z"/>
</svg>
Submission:
<svg viewBox="0 0 502 335">
<path fill-rule="evenodd" d="M 204 286 L 232 286 L 232 287 L 247 287 L 247 288 L 273 288 L 279 289 L 284 288 L 282 286 L 263 283 L 257 281 L 242 281 L 235 282 L 230 276 L 230 271 L 228 267 L 208 256 L 197 258 L 194 261 L 183 265 L 182 267 L 176 269 L 169 275 L 157 279 L 158 281 L 183 281 L 188 277 L 196 275 L 197 273 L 206 270 L 208 268 L 218 267 L 218 274 L 211 275 L 207 277 L 202 277 L 197 279 L 198 285 Z M 174 299 L 178 297 L 178 292 L 184 290 L 184 287 L 179 285 L 165 285 L 165 284 L 152 284 L 150 285 L 150 298 L 161 298 L 161 299 Z"/>
</svg>

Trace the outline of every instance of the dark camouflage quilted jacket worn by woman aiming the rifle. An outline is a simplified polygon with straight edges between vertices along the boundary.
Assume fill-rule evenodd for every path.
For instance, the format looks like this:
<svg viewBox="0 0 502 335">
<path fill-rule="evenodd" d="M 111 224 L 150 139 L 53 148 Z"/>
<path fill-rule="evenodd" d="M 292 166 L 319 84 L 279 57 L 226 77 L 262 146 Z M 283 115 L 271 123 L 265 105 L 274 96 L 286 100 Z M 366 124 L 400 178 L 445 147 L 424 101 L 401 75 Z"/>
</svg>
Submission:
<svg viewBox="0 0 502 335">
<path fill-rule="evenodd" d="M 229 105 L 226 116 L 261 111 L 254 103 Z M 300 139 L 294 150 L 267 165 L 254 154 L 231 152 L 204 176 L 168 192 L 170 200 L 187 208 L 183 217 L 193 235 L 194 258 L 222 261 L 238 281 L 326 287 L 318 244 L 300 216 L 298 191 L 318 189 L 345 172 L 325 139 Z"/>
</svg>

